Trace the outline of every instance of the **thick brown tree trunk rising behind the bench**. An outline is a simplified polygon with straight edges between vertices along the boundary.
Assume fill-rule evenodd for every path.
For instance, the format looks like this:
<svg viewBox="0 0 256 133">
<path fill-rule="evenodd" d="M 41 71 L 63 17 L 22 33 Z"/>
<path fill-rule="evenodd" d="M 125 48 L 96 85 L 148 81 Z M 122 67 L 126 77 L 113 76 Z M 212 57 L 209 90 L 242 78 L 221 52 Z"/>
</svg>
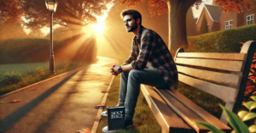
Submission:
<svg viewBox="0 0 256 133">
<path fill-rule="evenodd" d="M 196 0 L 167 0 L 169 21 L 168 48 L 175 53 L 178 47 L 188 45 L 186 14 Z"/>
</svg>

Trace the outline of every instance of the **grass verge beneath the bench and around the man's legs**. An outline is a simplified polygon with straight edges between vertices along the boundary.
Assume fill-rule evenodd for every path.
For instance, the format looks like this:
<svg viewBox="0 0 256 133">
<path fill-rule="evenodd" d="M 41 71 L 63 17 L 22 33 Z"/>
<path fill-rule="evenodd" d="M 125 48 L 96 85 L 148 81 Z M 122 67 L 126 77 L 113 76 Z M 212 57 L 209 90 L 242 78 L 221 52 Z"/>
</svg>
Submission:
<svg viewBox="0 0 256 133">
<path fill-rule="evenodd" d="M 129 53 L 120 55 L 118 57 L 109 56 L 109 58 L 116 58 L 119 60 L 119 65 L 123 64 L 125 59 L 129 57 Z M 113 80 L 113 85 L 111 86 L 110 92 L 108 94 L 107 106 L 113 107 L 119 101 L 119 88 L 120 88 L 120 75 L 116 76 Z M 195 89 L 191 86 L 185 84 L 179 84 L 177 91 L 183 93 L 184 96 L 189 97 L 194 103 L 201 106 L 201 108 L 206 109 L 210 114 L 220 117 L 222 109 L 219 108 L 218 103 L 224 104 L 221 100 L 216 97 Z M 103 108 L 103 111 L 107 111 L 107 108 Z M 161 128 L 157 120 L 154 118 L 154 114 L 148 107 L 148 103 L 143 103 L 143 92 L 137 100 L 137 107 L 133 118 L 134 128 L 127 130 L 119 130 L 123 133 L 160 133 Z M 102 133 L 102 128 L 108 125 L 108 118 L 102 117 L 100 125 L 98 126 L 97 133 Z M 193 132 L 194 133 L 194 132 Z"/>
</svg>

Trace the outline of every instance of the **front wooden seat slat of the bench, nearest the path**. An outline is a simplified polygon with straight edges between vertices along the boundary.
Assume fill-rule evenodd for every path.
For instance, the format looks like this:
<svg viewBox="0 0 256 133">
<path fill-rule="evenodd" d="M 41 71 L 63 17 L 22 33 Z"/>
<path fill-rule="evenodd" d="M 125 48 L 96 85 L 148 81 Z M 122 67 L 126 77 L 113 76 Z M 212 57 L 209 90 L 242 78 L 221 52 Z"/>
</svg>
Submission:
<svg viewBox="0 0 256 133">
<path fill-rule="evenodd" d="M 142 85 L 141 90 L 154 117 L 160 124 L 162 132 L 169 132 L 170 130 L 193 130 L 166 105 L 165 101 L 154 91 L 152 86 Z"/>
</svg>

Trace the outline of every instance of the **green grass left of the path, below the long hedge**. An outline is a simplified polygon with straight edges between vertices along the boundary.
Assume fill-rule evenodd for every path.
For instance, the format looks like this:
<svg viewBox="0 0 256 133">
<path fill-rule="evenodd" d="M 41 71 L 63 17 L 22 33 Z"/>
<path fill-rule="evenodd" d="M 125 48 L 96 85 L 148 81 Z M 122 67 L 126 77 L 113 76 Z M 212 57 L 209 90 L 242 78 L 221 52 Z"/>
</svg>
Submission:
<svg viewBox="0 0 256 133">
<path fill-rule="evenodd" d="M 49 74 L 48 63 L 35 64 L 1 64 L 0 65 L 0 95 L 15 91 L 24 86 L 32 85 L 41 80 L 61 75 L 62 73 L 88 65 L 80 62 L 55 63 L 55 75 Z M 18 78 L 16 77 L 17 75 Z M 6 78 L 9 76 L 9 78 Z M 9 81 L 11 84 L 9 84 Z"/>
</svg>

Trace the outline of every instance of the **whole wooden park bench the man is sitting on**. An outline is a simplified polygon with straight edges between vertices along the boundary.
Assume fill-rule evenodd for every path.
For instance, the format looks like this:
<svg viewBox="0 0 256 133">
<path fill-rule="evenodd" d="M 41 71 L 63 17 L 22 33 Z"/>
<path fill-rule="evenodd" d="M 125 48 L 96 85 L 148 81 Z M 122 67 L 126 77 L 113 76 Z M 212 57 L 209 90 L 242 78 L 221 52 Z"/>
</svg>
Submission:
<svg viewBox="0 0 256 133">
<path fill-rule="evenodd" d="M 256 42 L 253 41 L 244 43 L 240 53 L 184 53 L 183 48 L 180 48 L 174 58 L 178 80 L 222 99 L 225 108 L 237 114 L 255 51 Z M 162 132 L 209 131 L 201 125 L 195 125 L 195 121 L 230 132 L 224 112 L 217 119 L 176 90 L 172 87 L 166 90 L 145 85 L 142 87 L 144 98 Z"/>
</svg>

